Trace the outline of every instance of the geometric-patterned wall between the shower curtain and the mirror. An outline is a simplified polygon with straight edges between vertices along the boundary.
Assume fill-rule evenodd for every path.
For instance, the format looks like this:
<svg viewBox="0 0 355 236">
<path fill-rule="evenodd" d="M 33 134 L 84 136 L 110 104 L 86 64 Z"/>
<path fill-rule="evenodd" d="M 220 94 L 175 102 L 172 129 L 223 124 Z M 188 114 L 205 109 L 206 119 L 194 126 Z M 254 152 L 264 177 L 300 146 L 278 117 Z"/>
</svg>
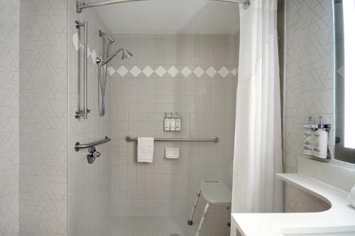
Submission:
<svg viewBox="0 0 355 236">
<path fill-rule="evenodd" d="M 284 171 L 297 172 L 302 155 L 302 125 L 323 116 L 333 125 L 329 148 L 334 155 L 334 35 L 332 1 L 285 1 Z M 333 157 L 334 158 L 334 157 Z M 354 168 L 354 165 L 332 160 Z M 352 167 L 351 167 L 352 166 Z M 285 184 L 286 212 L 327 209 L 326 203 Z"/>
</svg>

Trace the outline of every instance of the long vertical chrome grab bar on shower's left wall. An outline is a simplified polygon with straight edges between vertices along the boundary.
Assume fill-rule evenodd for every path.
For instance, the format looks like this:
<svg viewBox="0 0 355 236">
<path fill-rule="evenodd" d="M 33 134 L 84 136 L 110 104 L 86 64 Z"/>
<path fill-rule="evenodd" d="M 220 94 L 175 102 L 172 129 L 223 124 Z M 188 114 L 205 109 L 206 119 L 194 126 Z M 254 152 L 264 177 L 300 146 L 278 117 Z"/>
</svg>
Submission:
<svg viewBox="0 0 355 236">
<path fill-rule="evenodd" d="M 84 82 L 83 82 L 83 102 L 84 102 L 84 109 L 83 111 L 75 112 L 75 118 L 79 119 L 82 117 L 83 119 L 87 119 L 87 114 L 90 110 L 87 108 L 87 21 L 84 23 L 80 23 L 79 21 L 75 21 L 75 27 L 84 28 Z M 80 102 L 79 102 L 80 103 Z M 80 104 L 79 104 L 80 107 Z"/>
</svg>

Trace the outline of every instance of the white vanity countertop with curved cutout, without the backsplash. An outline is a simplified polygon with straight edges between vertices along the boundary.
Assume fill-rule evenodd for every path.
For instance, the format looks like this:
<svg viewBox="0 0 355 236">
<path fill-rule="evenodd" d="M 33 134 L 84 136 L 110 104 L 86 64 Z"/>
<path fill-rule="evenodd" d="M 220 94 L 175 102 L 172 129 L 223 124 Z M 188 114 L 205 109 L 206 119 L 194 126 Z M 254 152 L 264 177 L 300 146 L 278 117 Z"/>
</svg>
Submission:
<svg viewBox="0 0 355 236">
<path fill-rule="evenodd" d="M 338 227 L 340 230 L 351 227 L 351 233 L 355 232 L 355 208 L 347 200 L 348 192 L 303 174 L 277 175 L 283 181 L 321 198 L 331 207 L 315 213 L 233 213 L 232 220 L 243 235 L 302 235 L 297 234 L 297 230 L 307 232 L 304 229 L 325 227 Z"/>
</svg>

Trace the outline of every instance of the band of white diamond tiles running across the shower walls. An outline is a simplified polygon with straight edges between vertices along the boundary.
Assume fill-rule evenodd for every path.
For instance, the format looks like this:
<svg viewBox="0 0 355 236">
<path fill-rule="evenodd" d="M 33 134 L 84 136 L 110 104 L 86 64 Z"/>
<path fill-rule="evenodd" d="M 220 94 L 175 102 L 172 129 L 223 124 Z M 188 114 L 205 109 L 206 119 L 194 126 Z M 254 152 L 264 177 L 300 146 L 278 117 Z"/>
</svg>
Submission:
<svg viewBox="0 0 355 236">
<path fill-rule="evenodd" d="M 80 42 L 80 39 L 75 33 L 72 35 L 72 44 L 75 47 L 75 50 L 83 50 L 83 44 Z M 91 56 L 92 63 L 96 64 L 96 57 L 97 57 L 97 52 L 96 50 L 90 50 L 89 47 L 87 47 L 87 57 L 89 58 Z M 126 66 L 127 67 L 127 66 Z M 158 75 L 158 77 L 173 77 L 175 78 L 179 73 L 182 74 L 182 77 L 190 77 L 190 75 L 195 75 L 195 77 L 200 78 L 202 75 L 204 75 L 203 78 L 214 78 L 216 76 L 220 76 L 222 78 L 226 78 L 228 76 L 236 78 L 238 74 L 238 69 L 237 68 L 232 68 L 229 70 L 227 67 L 228 66 L 210 66 L 210 67 L 205 67 L 207 68 L 206 70 L 202 69 L 202 66 L 196 66 L 196 65 L 185 65 L 182 67 L 182 69 L 177 69 L 178 65 L 169 65 L 169 66 L 163 66 L 163 65 L 158 65 L 158 66 L 150 66 L 150 65 L 144 65 L 138 66 L 138 65 L 133 65 L 130 66 L 131 68 L 126 68 L 125 66 L 119 67 L 119 69 L 115 69 L 113 67 L 109 67 L 109 73 L 110 75 L 114 75 L 118 73 L 121 77 L 138 77 L 140 74 L 144 74 L 145 77 L 153 77 L 155 74 Z M 203 66 L 204 67 L 204 66 Z M 155 69 L 154 69 L 155 68 Z M 130 72 L 130 73 L 129 73 Z M 155 72 L 155 73 L 154 73 Z M 206 76 L 207 75 L 207 76 Z M 144 76 L 143 76 L 144 77 Z"/>
</svg>

